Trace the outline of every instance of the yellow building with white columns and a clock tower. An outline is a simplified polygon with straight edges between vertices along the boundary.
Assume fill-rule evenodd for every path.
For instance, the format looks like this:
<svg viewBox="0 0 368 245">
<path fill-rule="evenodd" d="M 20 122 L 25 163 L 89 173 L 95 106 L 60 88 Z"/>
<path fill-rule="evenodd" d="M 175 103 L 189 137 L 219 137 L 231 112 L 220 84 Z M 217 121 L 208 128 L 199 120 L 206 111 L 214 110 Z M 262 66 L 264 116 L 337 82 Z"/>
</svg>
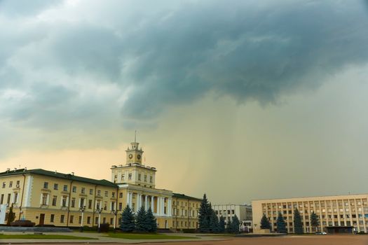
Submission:
<svg viewBox="0 0 368 245">
<path fill-rule="evenodd" d="M 129 205 L 133 211 L 151 207 L 158 228 L 197 228 L 200 200 L 157 189 L 156 168 L 142 165 L 143 151 L 137 142 L 132 142 L 126 153 L 125 165 L 111 167 L 111 181 L 43 169 L 0 173 L 0 223 L 6 223 L 13 204 L 16 219 L 36 225 L 96 226 L 100 222 L 117 226 L 121 211 Z M 177 210 L 185 211 L 179 214 Z"/>
</svg>

